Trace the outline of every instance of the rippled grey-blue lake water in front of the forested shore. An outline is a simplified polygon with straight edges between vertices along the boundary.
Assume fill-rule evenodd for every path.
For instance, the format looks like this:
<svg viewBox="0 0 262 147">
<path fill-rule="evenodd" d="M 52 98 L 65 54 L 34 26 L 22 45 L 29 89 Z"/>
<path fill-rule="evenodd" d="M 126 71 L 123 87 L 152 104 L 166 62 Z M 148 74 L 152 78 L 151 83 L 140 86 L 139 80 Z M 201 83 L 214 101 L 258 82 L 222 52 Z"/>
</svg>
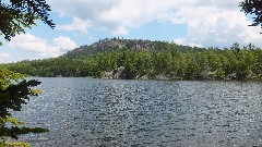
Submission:
<svg viewBox="0 0 262 147">
<path fill-rule="evenodd" d="M 36 77 L 45 93 L 14 115 L 39 147 L 207 147 L 262 143 L 262 82 Z"/>
</svg>

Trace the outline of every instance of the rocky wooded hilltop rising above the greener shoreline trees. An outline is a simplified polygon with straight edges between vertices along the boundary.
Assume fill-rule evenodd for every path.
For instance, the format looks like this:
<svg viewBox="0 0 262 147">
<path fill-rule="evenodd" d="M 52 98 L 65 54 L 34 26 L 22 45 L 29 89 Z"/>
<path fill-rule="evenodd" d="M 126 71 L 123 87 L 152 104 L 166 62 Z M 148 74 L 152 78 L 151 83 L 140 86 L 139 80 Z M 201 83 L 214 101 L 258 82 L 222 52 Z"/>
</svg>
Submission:
<svg viewBox="0 0 262 147">
<path fill-rule="evenodd" d="M 131 49 L 134 51 L 165 51 L 169 48 L 176 47 L 180 51 L 203 51 L 204 48 L 192 48 L 188 46 L 179 46 L 174 42 L 167 41 L 151 41 L 151 40 L 143 40 L 143 39 L 119 39 L 119 38 L 106 38 L 94 42 L 92 45 L 81 46 L 68 53 L 63 54 L 62 57 L 68 58 L 83 58 L 85 56 L 92 56 L 96 53 L 102 53 L 106 51 L 116 51 L 116 50 L 124 50 Z"/>
</svg>

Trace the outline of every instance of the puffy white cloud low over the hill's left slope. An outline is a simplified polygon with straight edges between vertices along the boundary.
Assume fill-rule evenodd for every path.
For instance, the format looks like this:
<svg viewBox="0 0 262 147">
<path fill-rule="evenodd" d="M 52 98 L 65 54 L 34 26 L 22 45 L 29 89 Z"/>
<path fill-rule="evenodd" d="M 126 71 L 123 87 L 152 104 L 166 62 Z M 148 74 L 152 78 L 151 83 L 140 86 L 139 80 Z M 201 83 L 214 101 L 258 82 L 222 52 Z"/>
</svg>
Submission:
<svg viewBox="0 0 262 147">
<path fill-rule="evenodd" d="M 53 58 L 76 48 L 76 44 L 68 37 L 59 36 L 49 44 L 46 39 L 36 37 L 32 34 L 21 34 L 12 38 L 8 45 L 11 49 L 22 49 L 33 52 L 39 58 Z"/>
</svg>

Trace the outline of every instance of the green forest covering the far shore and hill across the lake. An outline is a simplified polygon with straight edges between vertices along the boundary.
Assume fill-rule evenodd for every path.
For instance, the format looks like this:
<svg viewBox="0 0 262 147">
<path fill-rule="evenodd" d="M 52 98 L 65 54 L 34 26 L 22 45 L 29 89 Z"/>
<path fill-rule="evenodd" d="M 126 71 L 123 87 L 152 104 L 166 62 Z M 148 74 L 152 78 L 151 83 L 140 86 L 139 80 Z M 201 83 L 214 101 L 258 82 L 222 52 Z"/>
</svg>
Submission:
<svg viewBox="0 0 262 147">
<path fill-rule="evenodd" d="M 1 64 L 32 76 L 76 76 L 127 79 L 261 79 L 262 50 L 196 48 L 175 42 L 104 39 L 61 57 Z"/>
</svg>

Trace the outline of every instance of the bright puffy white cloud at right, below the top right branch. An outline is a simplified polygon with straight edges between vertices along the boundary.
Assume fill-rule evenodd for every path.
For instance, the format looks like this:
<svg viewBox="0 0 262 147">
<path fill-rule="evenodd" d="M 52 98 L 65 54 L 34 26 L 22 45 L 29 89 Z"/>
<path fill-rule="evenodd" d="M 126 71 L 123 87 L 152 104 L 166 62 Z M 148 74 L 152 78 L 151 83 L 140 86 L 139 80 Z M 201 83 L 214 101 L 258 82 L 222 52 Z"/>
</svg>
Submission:
<svg viewBox="0 0 262 147">
<path fill-rule="evenodd" d="M 186 12 L 186 13 L 184 13 Z M 250 27 L 246 15 L 236 10 L 217 8 L 181 8 L 163 16 L 172 24 L 187 24 L 187 41 L 201 42 L 204 47 L 229 47 L 234 42 L 249 42 L 262 47 L 259 27 Z"/>
</svg>

